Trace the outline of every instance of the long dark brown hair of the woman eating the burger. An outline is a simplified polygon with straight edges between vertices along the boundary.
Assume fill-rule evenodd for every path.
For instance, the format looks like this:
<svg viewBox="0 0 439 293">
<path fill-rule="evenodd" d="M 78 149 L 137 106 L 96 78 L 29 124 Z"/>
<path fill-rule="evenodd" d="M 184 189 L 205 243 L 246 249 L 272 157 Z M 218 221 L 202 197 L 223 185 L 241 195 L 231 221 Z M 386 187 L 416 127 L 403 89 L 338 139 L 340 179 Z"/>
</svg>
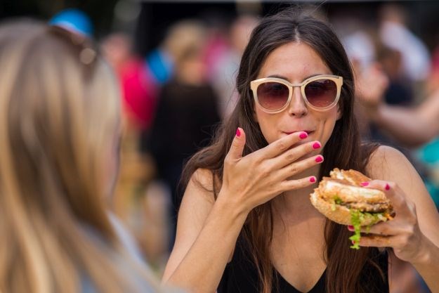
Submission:
<svg viewBox="0 0 439 293">
<path fill-rule="evenodd" d="M 250 92 L 250 82 L 256 76 L 267 56 L 275 48 L 289 42 L 301 41 L 313 48 L 325 61 L 333 74 L 343 77 L 343 88 L 339 102 L 342 113 L 323 150 L 325 161 L 320 168 L 320 179 L 328 176 L 334 167 L 356 169 L 367 173 L 366 165 L 369 155 L 376 145 L 361 145 L 358 126 L 353 115 L 354 81 L 353 71 L 348 57 L 338 37 L 327 23 L 305 15 L 300 11 L 289 9 L 263 18 L 254 29 L 249 44 L 244 51 L 237 75 L 237 90 L 240 99 L 230 119 L 218 129 L 213 143 L 194 155 L 185 166 L 182 185 L 186 185 L 190 176 L 198 168 L 212 172 L 216 196 L 223 175 L 223 160 L 227 154 L 238 126 L 246 131 L 244 155 L 263 148 L 268 143 L 254 122 L 254 100 Z M 252 210 L 242 228 L 241 237 L 256 263 L 261 292 L 271 292 L 273 286 L 273 265 L 270 260 L 270 243 L 273 237 L 273 211 L 271 202 L 262 204 Z M 361 284 L 362 268 L 366 263 L 376 268 L 382 275 L 379 266 L 372 261 L 372 249 L 362 248 L 359 251 L 349 249 L 348 229 L 332 221 L 325 226 L 327 292 L 351 293 L 366 292 L 367 286 Z"/>
</svg>

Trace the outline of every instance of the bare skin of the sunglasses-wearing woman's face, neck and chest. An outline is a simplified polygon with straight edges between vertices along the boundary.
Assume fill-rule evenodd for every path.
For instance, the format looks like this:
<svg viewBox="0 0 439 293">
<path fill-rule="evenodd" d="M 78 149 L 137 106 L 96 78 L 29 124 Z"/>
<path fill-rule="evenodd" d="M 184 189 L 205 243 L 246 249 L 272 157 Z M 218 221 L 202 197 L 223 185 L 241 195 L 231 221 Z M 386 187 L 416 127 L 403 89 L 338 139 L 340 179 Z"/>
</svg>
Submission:
<svg viewBox="0 0 439 293">
<path fill-rule="evenodd" d="M 319 74 L 334 74 L 334 72 L 329 70 L 313 48 L 303 42 L 291 42 L 270 53 L 257 79 L 279 77 L 299 84 Z M 306 131 L 308 138 L 296 145 L 312 141 L 322 144 L 322 148 L 309 152 L 304 157 L 313 157 L 322 153 L 334 130 L 336 120 L 340 117 L 338 106 L 325 111 L 308 108 L 299 87 L 294 88 L 291 103 L 284 111 L 268 114 L 257 106 L 254 110 L 255 119 L 268 143 L 273 143 L 296 131 Z M 320 164 L 315 164 L 291 179 L 317 176 L 319 169 Z M 273 265 L 291 284 L 295 284 L 296 287 L 302 284 L 301 289 L 306 292 L 313 287 L 326 267 L 320 254 L 324 244 L 325 217 L 311 206 L 308 199 L 316 185 L 317 183 L 306 188 L 284 192 L 273 199 L 273 207 L 275 207 L 275 226 L 271 247 Z M 284 223 L 287 226 L 284 226 Z M 296 241 L 297 235 L 307 235 L 309 242 Z M 311 242 L 315 245 L 310 246 Z M 301 268 L 294 265 L 297 262 L 308 263 L 307 277 L 303 275 Z M 308 282 L 300 281 L 305 279 Z"/>
</svg>

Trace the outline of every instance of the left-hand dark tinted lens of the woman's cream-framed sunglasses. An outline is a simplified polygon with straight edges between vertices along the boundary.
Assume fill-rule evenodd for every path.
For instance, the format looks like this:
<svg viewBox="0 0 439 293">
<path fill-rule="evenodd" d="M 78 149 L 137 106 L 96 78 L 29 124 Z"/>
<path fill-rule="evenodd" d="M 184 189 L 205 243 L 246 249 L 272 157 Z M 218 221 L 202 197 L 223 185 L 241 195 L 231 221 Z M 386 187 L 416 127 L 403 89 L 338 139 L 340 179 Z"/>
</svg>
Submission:
<svg viewBox="0 0 439 293">
<path fill-rule="evenodd" d="M 258 102 L 267 110 L 279 110 L 288 101 L 288 86 L 279 82 L 266 82 L 258 86 Z"/>
</svg>

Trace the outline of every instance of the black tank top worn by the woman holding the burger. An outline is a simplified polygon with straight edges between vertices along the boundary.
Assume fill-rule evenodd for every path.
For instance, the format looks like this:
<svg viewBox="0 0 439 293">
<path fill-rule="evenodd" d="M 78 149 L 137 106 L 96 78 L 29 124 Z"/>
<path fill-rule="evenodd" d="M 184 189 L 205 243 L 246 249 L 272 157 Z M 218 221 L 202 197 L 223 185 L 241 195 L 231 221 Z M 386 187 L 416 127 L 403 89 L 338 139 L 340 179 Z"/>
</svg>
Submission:
<svg viewBox="0 0 439 293">
<path fill-rule="evenodd" d="M 251 260 L 248 246 L 243 245 L 242 238 L 238 238 L 235 252 L 232 256 L 232 261 L 227 264 L 223 277 L 218 285 L 218 293 L 259 293 L 260 284 L 258 279 L 258 272 L 256 266 Z M 372 249 L 370 256 L 376 263 L 379 264 L 381 270 L 385 274 L 385 280 L 381 278 L 379 271 L 373 268 L 372 265 L 366 264 L 362 270 L 361 282 L 367 287 L 366 292 L 369 293 L 388 293 L 388 259 L 387 252 L 380 253 L 378 249 Z M 273 280 L 277 279 L 276 284 L 273 282 L 272 292 L 279 293 L 302 293 L 294 288 L 287 280 L 282 278 L 282 275 L 276 270 L 273 270 Z M 308 293 L 325 293 L 326 271 L 322 277 L 310 289 Z M 355 292 L 352 292 L 355 293 Z"/>
</svg>

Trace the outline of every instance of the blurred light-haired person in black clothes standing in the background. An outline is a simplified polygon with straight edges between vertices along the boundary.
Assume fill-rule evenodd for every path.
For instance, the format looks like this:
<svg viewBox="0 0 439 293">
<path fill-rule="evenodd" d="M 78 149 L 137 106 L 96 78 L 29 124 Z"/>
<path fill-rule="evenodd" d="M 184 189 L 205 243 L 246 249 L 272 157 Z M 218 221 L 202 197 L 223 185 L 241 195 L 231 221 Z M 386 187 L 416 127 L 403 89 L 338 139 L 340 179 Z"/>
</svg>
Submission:
<svg viewBox="0 0 439 293">
<path fill-rule="evenodd" d="M 174 48 L 174 73 L 159 93 L 149 138 L 157 176 L 171 191 L 171 243 L 181 200 L 177 187 L 185 159 L 209 143 L 213 127 L 221 119 L 218 98 L 205 73 L 206 30 L 195 20 L 183 20 L 174 25 L 173 32 L 176 39 L 169 42 Z"/>
</svg>

